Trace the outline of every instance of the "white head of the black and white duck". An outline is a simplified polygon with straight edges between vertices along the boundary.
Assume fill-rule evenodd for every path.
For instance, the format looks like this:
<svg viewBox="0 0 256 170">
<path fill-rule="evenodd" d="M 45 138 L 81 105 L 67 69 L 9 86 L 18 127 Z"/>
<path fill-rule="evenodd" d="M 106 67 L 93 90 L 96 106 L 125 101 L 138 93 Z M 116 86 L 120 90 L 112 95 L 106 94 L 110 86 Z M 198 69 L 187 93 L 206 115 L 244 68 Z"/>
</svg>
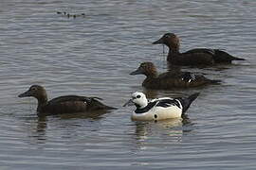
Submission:
<svg viewBox="0 0 256 170">
<path fill-rule="evenodd" d="M 132 98 L 126 102 L 123 107 L 135 105 L 138 109 L 148 105 L 148 99 L 144 93 L 132 93 Z"/>
</svg>

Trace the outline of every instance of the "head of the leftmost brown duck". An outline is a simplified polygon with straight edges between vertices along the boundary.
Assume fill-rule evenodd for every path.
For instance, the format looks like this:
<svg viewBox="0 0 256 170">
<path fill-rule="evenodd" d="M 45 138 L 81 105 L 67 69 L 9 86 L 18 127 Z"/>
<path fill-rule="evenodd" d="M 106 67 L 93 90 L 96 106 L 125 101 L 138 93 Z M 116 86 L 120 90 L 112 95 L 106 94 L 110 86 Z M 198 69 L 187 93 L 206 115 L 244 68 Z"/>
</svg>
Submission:
<svg viewBox="0 0 256 170">
<path fill-rule="evenodd" d="M 30 88 L 25 92 L 18 95 L 18 97 L 35 97 L 38 101 L 46 102 L 47 101 L 47 94 L 46 89 L 39 85 L 32 85 Z"/>
</svg>

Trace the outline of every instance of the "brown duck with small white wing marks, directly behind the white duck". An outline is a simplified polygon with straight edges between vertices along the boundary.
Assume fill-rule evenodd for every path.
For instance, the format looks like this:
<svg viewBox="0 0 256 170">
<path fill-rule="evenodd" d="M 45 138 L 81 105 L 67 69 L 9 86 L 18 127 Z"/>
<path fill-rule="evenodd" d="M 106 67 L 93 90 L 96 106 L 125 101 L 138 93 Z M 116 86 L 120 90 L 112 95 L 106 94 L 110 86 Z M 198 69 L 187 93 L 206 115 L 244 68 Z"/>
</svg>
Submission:
<svg viewBox="0 0 256 170">
<path fill-rule="evenodd" d="M 153 62 L 142 62 L 136 71 L 130 73 L 134 75 L 144 75 L 146 78 L 142 86 L 147 89 L 171 90 L 174 88 L 192 88 L 209 84 L 219 84 L 220 80 L 212 80 L 203 75 L 182 72 L 174 69 L 158 75 Z"/>
</svg>

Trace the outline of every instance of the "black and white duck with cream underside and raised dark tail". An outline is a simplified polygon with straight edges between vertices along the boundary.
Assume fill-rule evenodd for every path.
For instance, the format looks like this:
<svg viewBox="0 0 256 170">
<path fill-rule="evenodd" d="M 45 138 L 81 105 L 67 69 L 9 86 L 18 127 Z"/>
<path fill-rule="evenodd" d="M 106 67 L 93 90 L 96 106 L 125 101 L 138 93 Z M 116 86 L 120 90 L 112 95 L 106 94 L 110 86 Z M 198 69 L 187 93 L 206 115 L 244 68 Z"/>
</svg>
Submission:
<svg viewBox="0 0 256 170">
<path fill-rule="evenodd" d="M 136 121 L 157 121 L 182 118 L 199 93 L 186 98 L 162 97 L 148 100 L 144 93 L 132 93 L 132 98 L 123 107 L 135 105 L 131 119 Z"/>
</svg>

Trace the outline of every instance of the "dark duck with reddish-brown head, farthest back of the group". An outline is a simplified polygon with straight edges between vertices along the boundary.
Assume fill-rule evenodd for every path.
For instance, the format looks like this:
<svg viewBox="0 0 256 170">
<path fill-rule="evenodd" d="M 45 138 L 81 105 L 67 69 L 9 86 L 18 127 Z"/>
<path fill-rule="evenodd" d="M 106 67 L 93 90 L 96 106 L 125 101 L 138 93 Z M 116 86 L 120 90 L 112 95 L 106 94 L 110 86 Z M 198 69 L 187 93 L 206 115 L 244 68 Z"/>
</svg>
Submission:
<svg viewBox="0 0 256 170">
<path fill-rule="evenodd" d="M 179 52 L 179 38 L 174 33 L 166 33 L 153 44 L 165 44 L 169 47 L 167 61 L 174 65 L 196 66 L 196 65 L 214 65 L 229 64 L 232 60 L 246 60 L 236 58 L 220 49 L 194 48 L 185 53 Z"/>
</svg>

